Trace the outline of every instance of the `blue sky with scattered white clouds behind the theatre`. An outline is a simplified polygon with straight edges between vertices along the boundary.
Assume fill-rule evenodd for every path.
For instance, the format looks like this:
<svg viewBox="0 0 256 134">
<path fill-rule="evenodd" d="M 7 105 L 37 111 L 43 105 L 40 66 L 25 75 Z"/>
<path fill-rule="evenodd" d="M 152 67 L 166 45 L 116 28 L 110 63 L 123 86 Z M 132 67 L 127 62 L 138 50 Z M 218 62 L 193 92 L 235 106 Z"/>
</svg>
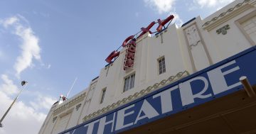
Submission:
<svg viewBox="0 0 256 134">
<path fill-rule="evenodd" d="M 0 116 L 21 80 L 28 81 L 0 133 L 38 133 L 50 106 L 67 94 L 76 77 L 70 96 L 99 75 L 105 58 L 125 38 L 151 21 L 174 14 L 180 26 L 231 1 L 0 0 Z"/>
</svg>

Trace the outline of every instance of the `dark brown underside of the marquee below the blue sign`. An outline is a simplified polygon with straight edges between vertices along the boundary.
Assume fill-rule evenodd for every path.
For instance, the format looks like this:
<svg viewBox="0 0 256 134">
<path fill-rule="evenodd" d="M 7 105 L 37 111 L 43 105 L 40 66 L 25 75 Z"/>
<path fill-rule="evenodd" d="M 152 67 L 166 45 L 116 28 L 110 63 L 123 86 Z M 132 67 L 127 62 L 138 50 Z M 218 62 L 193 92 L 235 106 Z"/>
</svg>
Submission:
<svg viewBox="0 0 256 134">
<path fill-rule="evenodd" d="M 256 85 L 253 86 L 256 91 Z M 256 97 L 245 90 L 223 96 L 122 134 L 256 133 Z"/>
</svg>

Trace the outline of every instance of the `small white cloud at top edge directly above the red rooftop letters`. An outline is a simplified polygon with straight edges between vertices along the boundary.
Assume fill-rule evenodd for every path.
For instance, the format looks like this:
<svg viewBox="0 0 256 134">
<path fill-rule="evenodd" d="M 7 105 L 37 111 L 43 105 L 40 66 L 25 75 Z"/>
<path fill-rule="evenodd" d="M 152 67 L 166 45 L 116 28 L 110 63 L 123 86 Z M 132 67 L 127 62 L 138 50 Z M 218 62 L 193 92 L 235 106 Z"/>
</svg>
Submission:
<svg viewBox="0 0 256 134">
<path fill-rule="evenodd" d="M 161 13 L 168 13 L 173 10 L 173 6 L 176 0 L 144 0 L 146 6 L 151 7 Z"/>
</svg>

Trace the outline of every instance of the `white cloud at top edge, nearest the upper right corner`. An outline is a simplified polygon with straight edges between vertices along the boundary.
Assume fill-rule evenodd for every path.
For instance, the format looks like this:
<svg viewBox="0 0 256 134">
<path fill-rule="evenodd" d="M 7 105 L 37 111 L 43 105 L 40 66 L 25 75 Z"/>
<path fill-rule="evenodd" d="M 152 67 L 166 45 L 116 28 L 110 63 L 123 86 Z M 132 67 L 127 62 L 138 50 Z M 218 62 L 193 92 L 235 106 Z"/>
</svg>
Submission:
<svg viewBox="0 0 256 134">
<path fill-rule="evenodd" d="M 223 7 L 234 0 L 193 0 L 193 3 L 203 7 Z"/>
</svg>

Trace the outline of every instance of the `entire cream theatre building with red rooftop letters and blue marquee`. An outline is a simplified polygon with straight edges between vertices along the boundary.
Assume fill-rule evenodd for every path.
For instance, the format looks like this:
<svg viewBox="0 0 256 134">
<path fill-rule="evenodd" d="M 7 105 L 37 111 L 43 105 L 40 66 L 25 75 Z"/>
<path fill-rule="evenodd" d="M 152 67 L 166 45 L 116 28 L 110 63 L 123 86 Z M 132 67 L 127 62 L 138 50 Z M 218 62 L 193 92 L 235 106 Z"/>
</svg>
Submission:
<svg viewBox="0 0 256 134">
<path fill-rule="evenodd" d="M 256 133 L 256 0 L 180 27 L 172 19 L 124 37 L 99 77 L 53 104 L 39 134 Z"/>
</svg>

